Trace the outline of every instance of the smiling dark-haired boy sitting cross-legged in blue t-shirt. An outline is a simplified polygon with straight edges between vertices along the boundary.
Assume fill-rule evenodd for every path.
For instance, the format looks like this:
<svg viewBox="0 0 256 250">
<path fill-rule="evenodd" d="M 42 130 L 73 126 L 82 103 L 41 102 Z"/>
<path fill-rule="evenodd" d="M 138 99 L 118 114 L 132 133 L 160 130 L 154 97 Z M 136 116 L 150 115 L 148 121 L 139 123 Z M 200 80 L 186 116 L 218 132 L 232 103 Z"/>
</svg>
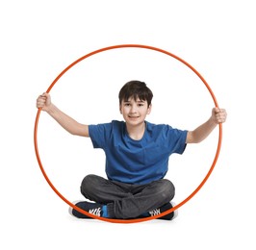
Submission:
<svg viewBox="0 0 256 250">
<path fill-rule="evenodd" d="M 37 107 L 48 112 L 69 133 L 90 137 L 94 148 L 106 155 L 108 179 L 88 175 L 81 184 L 82 194 L 93 201 L 75 205 L 88 213 L 109 218 L 138 218 L 163 213 L 172 208 L 173 184 L 164 179 L 168 158 L 182 154 L 188 143 L 208 137 L 218 123 L 225 122 L 226 112 L 214 108 L 211 117 L 193 131 L 173 129 L 145 120 L 151 112 L 152 91 L 140 81 L 130 81 L 119 91 L 119 111 L 124 121 L 98 125 L 81 124 L 52 102 L 48 93 L 38 96 Z M 88 218 L 70 208 L 79 218 Z M 175 212 L 174 212 L 175 213 Z M 168 213 L 161 219 L 172 219 Z"/>
</svg>

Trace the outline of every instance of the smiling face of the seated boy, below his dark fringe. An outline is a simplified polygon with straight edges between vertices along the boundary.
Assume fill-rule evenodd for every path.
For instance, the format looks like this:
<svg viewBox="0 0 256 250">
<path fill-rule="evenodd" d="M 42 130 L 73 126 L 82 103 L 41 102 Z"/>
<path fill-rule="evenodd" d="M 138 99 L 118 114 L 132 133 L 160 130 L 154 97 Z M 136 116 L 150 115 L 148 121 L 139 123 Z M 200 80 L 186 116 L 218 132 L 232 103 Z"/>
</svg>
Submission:
<svg viewBox="0 0 256 250">
<path fill-rule="evenodd" d="M 132 97 L 128 101 L 122 100 L 119 108 L 126 123 L 133 126 L 144 122 L 145 116 L 151 112 L 151 105 L 148 107 L 147 101 Z"/>
</svg>

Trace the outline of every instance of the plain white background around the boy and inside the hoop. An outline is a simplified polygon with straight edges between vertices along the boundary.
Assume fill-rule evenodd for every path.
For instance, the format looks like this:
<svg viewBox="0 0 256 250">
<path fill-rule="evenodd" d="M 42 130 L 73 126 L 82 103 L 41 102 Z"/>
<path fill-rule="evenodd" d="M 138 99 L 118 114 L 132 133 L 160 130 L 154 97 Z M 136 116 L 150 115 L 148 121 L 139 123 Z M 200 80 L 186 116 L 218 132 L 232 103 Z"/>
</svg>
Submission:
<svg viewBox="0 0 256 250">
<path fill-rule="evenodd" d="M 1 249 L 255 249 L 255 7 L 253 1 L 1 1 Z M 34 150 L 36 99 L 66 66 L 115 44 L 164 49 L 190 63 L 228 112 L 218 162 L 174 221 L 115 224 L 77 220 L 46 183 Z M 68 70 L 53 102 L 84 123 L 121 119 L 117 94 L 127 81 L 154 92 L 148 120 L 193 129 L 214 102 L 184 64 L 150 50 L 116 49 Z M 207 174 L 218 129 L 173 156 L 167 177 L 184 200 Z M 104 174 L 104 155 L 40 113 L 44 169 L 70 201 L 89 173 Z"/>
</svg>

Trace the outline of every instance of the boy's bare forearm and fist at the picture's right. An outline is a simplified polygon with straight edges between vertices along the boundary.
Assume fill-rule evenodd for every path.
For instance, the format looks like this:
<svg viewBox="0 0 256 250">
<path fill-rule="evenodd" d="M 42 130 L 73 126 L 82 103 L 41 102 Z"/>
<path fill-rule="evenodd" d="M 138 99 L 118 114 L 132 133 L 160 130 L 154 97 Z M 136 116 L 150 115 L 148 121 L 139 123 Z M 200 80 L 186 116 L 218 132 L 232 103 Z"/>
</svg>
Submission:
<svg viewBox="0 0 256 250">
<path fill-rule="evenodd" d="M 198 143 L 208 137 L 219 123 L 226 120 L 227 113 L 223 109 L 214 108 L 211 117 L 193 131 L 189 131 L 186 143 Z"/>
</svg>

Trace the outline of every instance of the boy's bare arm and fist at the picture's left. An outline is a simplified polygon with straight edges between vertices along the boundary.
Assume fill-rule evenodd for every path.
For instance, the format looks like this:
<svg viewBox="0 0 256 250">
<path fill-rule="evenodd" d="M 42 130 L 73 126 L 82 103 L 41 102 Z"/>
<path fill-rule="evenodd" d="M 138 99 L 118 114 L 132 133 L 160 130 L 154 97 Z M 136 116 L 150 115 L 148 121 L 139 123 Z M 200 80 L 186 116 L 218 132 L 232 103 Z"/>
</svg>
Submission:
<svg viewBox="0 0 256 250">
<path fill-rule="evenodd" d="M 67 132 L 75 136 L 90 137 L 89 126 L 81 124 L 60 111 L 52 102 L 50 94 L 43 93 L 38 96 L 37 108 L 48 112 Z"/>
</svg>

